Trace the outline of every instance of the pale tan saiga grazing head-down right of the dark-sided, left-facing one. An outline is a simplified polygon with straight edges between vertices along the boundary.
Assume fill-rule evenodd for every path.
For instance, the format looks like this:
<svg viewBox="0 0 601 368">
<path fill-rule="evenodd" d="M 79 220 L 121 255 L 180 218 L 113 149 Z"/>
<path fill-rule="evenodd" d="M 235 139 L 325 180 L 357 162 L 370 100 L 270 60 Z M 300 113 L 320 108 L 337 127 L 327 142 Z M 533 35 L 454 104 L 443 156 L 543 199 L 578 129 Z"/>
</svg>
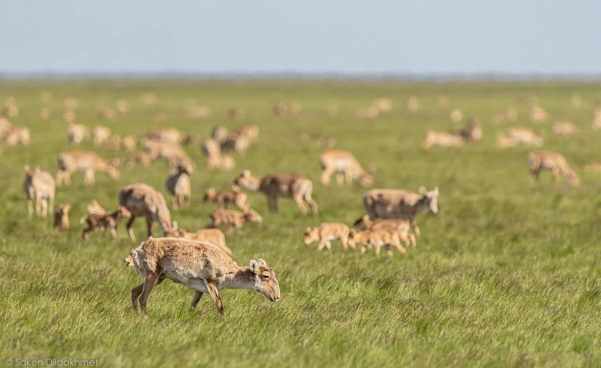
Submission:
<svg viewBox="0 0 601 368">
<path fill-rule="evenodd" d="M 333 173 L 337 175 L 338 185 L 341 186 L 346 179 L 350 184 L 353 180 L 359 181 L 364 187 L 373 185 L 374 178 L 361 167 L 361 164 L 349 151 L 341 149 L 328 149 L 322 152 L 319 158 L 322 164 L 322 184 L 328 185 L 330 176 Z"/>
</svg>

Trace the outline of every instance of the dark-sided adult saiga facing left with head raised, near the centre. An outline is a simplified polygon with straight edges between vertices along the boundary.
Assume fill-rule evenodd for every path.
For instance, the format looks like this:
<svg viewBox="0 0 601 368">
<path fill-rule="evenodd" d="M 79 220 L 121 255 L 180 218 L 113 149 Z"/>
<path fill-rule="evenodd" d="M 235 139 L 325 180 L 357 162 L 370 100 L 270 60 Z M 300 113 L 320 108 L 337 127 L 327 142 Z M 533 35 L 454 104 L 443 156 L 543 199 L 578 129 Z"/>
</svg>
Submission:
<svg viewBox="0 0 601 368">
<path fill-rule="evenodd" d="M 307 202 L 311 212 L 317 216 L 317 204 L 311 198 L 313 182 L 305 176 L 295 173 L 276 173 L 255 178 L 249 170 L 244 170 L 234 179 L 234 185 L 261 192 L 267 196 L 271 211 L 278 211 L 278 197 L 292 198 L 302 214 L 307 214 Z"/>
</svg>

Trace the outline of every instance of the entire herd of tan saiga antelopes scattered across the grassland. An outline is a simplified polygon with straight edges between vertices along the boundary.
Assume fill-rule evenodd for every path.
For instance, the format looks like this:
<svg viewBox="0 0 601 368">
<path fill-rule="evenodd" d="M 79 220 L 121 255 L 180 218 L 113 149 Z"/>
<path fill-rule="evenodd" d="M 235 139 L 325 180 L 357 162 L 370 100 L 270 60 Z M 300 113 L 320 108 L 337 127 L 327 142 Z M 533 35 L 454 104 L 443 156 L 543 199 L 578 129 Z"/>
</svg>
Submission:
<svg viewBox="0 0 601 368">
<path fill-rule="evenodd" d="M 152 98 L 151 98 L 152 97 Z M 156 96 L 145 95 L 142 101 L 153 104 Z M 442 102 L 441 102 L 442 101 Z M 440 106 L 449 106 L 448 98 L 439 98 Z M 70 145 L 79 146 L 89 139 L 94 146 L 106 146 L 111 149 L 124 149 L 131 152 L 126 160 L 127 170 L 132 170 L 136 164 L 148 167 L 154 161 L 163 159 L 168 161 L 173 169 L 165 179 L 165 189 L 171 196 L 172 210 L 184 210 L 191 205 L 192 198 L 192 173 L 195 163 L 186 153 L 183 146 L 194 145 L 198 141 L 195 134 L 187 134 L 175 128 L 163 127 L 151 131 L 139 140 L 134 135 L 119 136 L 112 133 L 108 127 L 97 125 L 90 128 L 76 122 L 77 100 L 75 98 L 65 101 L 66 110 L 63 113 L 67 125 L 67 141 Z M 186 107 L 188 110 L 190 106 Z M 205 107 L 205 109 L 210 108 Z M 407 102 L 407 109 L 417 113 L 423 109 L 419 107 L 419 100 L 411 97 Z M 43 109 L 40 116 L 49 115 L 50 110 Z M 328 114 L 332 115 L 331 107 Z M 359 116 L 374 119 L 381 114 L 392 110 L 392 101 L 388 98 L 379 98 L 369 107 L 359 111 Z M 121 115 L 130 112 L 127 101 L 120 100 L 117 111 Z M 16 103 L 11 100 L 10 106 L 5 107 L 5 117 L 0 118 L 0 137 L 4 138 L 9 146 L 31 142 L 29 129 L 12 125 L 8 118 L 18 115 Z M 277 101 L 273 107 L 276 116 L 296 116 L 301 112 L 300 104 L 284 103 Z M 338 109 L 336 109 L 338 113 Z M 99 116 L 104 119 L 115 118 L 115 110 L 104 106 L 99 110 Z M 163 112 L 163 118 L 166 114 Z M 190 115 L 190 114 L 189 114 Z M 194 114 L 193 114 L 194 115 Z M 193 116 L 191 115 L 191 116 Z M 205 116 L 204 114 L 203 116 Z M 195 116 L 195 115 L 194 115 Z M 208 115 L 206 115 L 208 116 Z M 205 117 L 206 117 L 205 116 Z M 245 112 L 240 109 L 231 109 L 230 118 L 242 119 Z M 463 113 L 454 109 L 450 114 L 453 122 L 460 122 Z M 505 112 L 493 116 L 493 121 L 500 124 L 504 121 L 515 121 L 517 110 L 510 107 Z M 542 107 L 532 108 L 531 119 L 534 122 L 544 122 L 549 115 Z M 595 112 L 592 125 L 593 129 L 601 126 L 601 110 Z M 569 121 L 555 121 L 552 131 L 556 135 L 579 134 L 578 128 Z M 242 125 L 231 132 L 223 126 L 213 128 L 210 137 L 201 143 L 201 151 L 206 157 L 206 167 L 210 170 L 230 171 L 236 166 L 233 155 L 245 155 L 249 146 L 258 141 L 259 128 L 256 125 Z M 306 133 L 305 133 L 306 134 Z M 307 135 L 308 136 L 308 135 Z M 320 137 L 319 145 L 325 148 L 319 156 L 322 168 L 320 182 L 329 186 L 332 175 L 336 176 L 338 186 L 358 182 L 362 187 L 372 187 L 376 165 L 370 164 L 369 170 L 359 162 L 352 152 L 342 149 L 332 149 L 335 139 Z M 453 128 L 448 131 L 426 130 L 426 139 L 423 147 L 430 149 L 433 146 L 452 147 L 463 146 L 465 143 L 479 144 L 483 142 L 483 130 L 480 122 L 475 118 L 468 118 L 464 128 Z M 497 134 L 496 140 L 499 147 L 513 147 L 516 145 L 543 145 L 543 135 L 526 127 L 511 127 L 508 133 Z M 140 146 L 142 151 L 136 151 Z M 224 154 L 222 152 L 230 152 Z M 46 217 L 54 213 L 53 228 L 57 231 L 69 231 L 69 213 L 71 204 L 59 204 L 54 211 L 56 187 L 71 184 L 73 173 L 84 173 L 85 186 L 95 183 L 95 173 L 105 172 L 110 178 L 120 178 L 120 158 L 102 158 L 94 151 L 71 149 L 60 152 L 57 157 L 58 172 L 56 180 L 53 176 L 40 167 L 31 169 L 25 165 L 25 179 L 23 190 L 26 193 L 28 216 L 33 216 L 33 201 L 35 200 L 35 213 L 37 216 Z M 529 173 L 538 179 L 540 172 L 552 172 L 554 181 L 564 175 L 567 181 L 574 186 L 580 184 L 578 174 L 569 166 L 566 158 L 553 151 L 533 151 L 528 155 Z M 590 164 L 591 170 L 601 164 Z M 319 216 L 317 202 L 313 199 L 313 181 L 300 173 L 263 173 L 262 176 L 253 176 L 249 170 L 242 170 L 233 178 L 231 189 L 218 192 L 214 187 L 209 187 L 204 192 L 203 201 L 216 204 L 215 210 L 210 213 L 209 223 L 203 229 L 196 231 L 179 229 L 177 222 L 171 219 L 171 213 L 165 197 L 159 190 L 145 183 L 136 183 L 124 186 L 120 192 L 115 193 L 117 204 L 115 211 L 108 212 L 95 199 L 87 205 L 87 214 L 82 216 L 80 223 L 85 227 L 81 236 L 84 240 L 96 230 L 110 232 L 111 238 L 117 238 L 117 228 L 121 220 L 127 219 L 126 231 L 130 240 L 136 241 L 133 234 L 133 222 L 137 217 L 143 217 L 147 226 L 147 240 L 124 259 L 127 266 L 135 268 L 136 273 L 144 282 L 131 291 L 133 309 L 139 306 L 144 315 L 148 295 L 165 279 L 180 283 L 192 290 L 194 295 L 190 310 L 194 310 L 203 294 L 209 294 L 221 315 L 224 307 L 219 295 L 222 289 L 252 289 L 264 294 L 270 301 L 278 301 L 280 297 L 279 283 L 274 271 L 267 267 L 262 259 L 250 261 L 248 266 L 241 267 L 230 258 L 233 253 L 227 247 L 226 239 L 232 236 L 233 230 L 242 234 L 246 223 L 261 223 L 263 218 L 248 201 L 244 190 L 260 192 L 266 196 L 270 211 L 277 212 L 279 199 L 292 199 L 303 215 L 311 210 L 313 216 Z M 362 203 L 365 214 L 351 225 L 340 222 L 323 222 L 319 226 L 308 227 L 304 232 L 304 244 L 310 245 L 317 242 L 317 250 L 324 248 L 331 251 L 331 241 L 340 241 L 343 249 L 355 249 L 356 244 L 361 244 L 361 253 L 373 249 L 379 255 L 380 249 L 386 250 L 392 256 L 394 251 L 406 253 L 406 247 L 415 247 L 416 238 L 420 236 L 416 224 L 419 213 L 438 213 L 439 189 L 426 189 L 419 187 L 418 192 L 406 189 L 370 189 L 363 198 Z M 234 205 L 238 210 L 230 207 Z M 152 229 L 154 222 L 159 224 L 163 237 L 153 238 Z M 219 229 L 227 228 L 227 232 Z M 249 229 L 253 229 L 249 226 Z M 404 245 L 404 247 L 403 247 Z"/>
</svg>

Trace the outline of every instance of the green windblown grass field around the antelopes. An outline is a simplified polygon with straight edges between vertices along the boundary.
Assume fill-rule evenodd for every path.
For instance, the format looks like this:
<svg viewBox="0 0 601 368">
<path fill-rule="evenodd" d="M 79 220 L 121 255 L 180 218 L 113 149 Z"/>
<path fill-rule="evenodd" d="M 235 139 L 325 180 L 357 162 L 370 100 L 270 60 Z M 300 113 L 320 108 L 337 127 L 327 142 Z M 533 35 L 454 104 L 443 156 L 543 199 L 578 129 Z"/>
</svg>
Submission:
<svg viewBox="0 0 601 368">
<path fill-rule="evenodd" d="M 42 91 L 52 92 L 43 103 Z M 139 97 L 154 91 L 157 102 Z M 601 366 L 601 174 L 582 167 L 601 161 L 601 131 L 591 130 L 601 97 L 594 83 L 400 83 L 400 82 L 1 82 L 0 101 L 13 96 L 20 115 L 13 124 L 31 128 L 29 147 L 3 145 L 0 156 L 0 352 L 5 358 L 98 358 L 112 366 Z M 570 105 L 572 94 L 582 106 Z M 302 104 L 296 117 L 275 117 L 278 96 Z M 409 113 L 406 101 L 419 98 Z M 446 95 L 451 104 L 438 106 Z M 552 118 L 568 119 L 581 129 L 576 137 L 551 134 L 551 122 L 533 124 L 520 96 L 535 96 Z M 319 218 L 302 216 L 281 199 L 280 212 L 267 211 L 266 199 L 249 193 L 263 223 L 250 224 L 243 236 L 228 238 L 233 259 L 246 265 L 263 258 L 275 270 L 279 303 L 251 291 L 224 291 L 226 319 L 205 297 L 188 312 L 192 291 L 172 282 L 154 289 L 148 318 L 136 315 L 130 289 L 140 279 L 126 268 L 132 243 L 122 224 L 119 239 L 100 234 L 81 240 L 79 217 L 91 199 L 117 205 L 121 187 L 145 182 L 166 195 L 168 165 L 121 169 L 112 181 L 98 173 L 84 187 L 83 175 L 57 189 L 56 203 L 72 204 L 69 232 L 52 232 L 52 220 L 28 219 L 22 190 L 23 165 L 40 165 L 55 174 L 56 156 L 70 149 L 63 121 L 63 100 L 79 99 L 78 121 L 107 125 L 119 134 L 147 133 L 173 126 L 202 139 L 215 125 L 257 124 L 259 140 L 231 172 L 204 168 L 200 146 L 186 151 L 197 162 L 192 175 L 192 207 L 171 211 L 180 227 L 198 229 L 212 204 L 202 202 L 209 186 L 227 189 L 243 169 L 255 175 L 298 172 L 314 182 Z M 391 112 L 372 121 L 356 110 L 375 98 L 389 97 Z M 96 106 L 120 98 L 132 104 L 129 115 L 100 120 Z M 185 100 L 212 107 L 208 119 L 187 119 Z M 337 116 L 326 113 L 330 104 Z M 38 117 L 41 107 L 52 117 Z M 495 125 L 491 116 L 516 106 L 516 122 Z M 227 109 L 240 107 L 246 118 L 232 120 Z M 462 148 L 421 147 L 426 129 L 448 130 L 451 109 L 480 119 L 485 142 Z M 156 112 L 164 122 L 155 122 Z M 463 124 L 463 123 L 462 123 Z M 562 152 L 581 175 L 582 185 L 540 183 L 528 178 L 532 148 L 495 146 L 497 131 L 511 126 L 545 133 L 545 149 Z M 299 138 L 308 133 L 310 140 Z M 305 247 L 304 229 L 320 222 L 352 223 L 364 213 L 358 184 L 339 188 L 319 182 L 318 136 L 337 139 L 368 166 L 377 163 L 375 188 L 419 186 L 440 190 L 438 214 L 420 214 L 421 237 L 406 255 L 379 258 Z M 82 148 L 93 149 L 86 141 Z M 105 158 L 127 153 L 97 149 Z M 168 198 L 166 196 L 166 198 Z M 169 207 L 170 201 L 169 202 Z M 138 219 L 136 236 L 144 238 Z M 155 226 L 155 237 L 160 235 Z M 4 363 L 2 363 L 4 364 Z"/>
</svg>

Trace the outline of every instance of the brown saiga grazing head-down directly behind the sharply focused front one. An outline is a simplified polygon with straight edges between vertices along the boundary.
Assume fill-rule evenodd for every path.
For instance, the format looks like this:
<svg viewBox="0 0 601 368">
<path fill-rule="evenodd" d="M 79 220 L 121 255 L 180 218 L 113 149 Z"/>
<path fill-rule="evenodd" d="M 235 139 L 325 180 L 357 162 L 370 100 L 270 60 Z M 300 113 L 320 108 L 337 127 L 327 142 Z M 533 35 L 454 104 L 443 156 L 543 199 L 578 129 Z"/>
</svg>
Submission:
<svg viewBox="0 0 601 368">
<path fill-rule="evenodd" d="M 177 231 L 177 223 L 171 222 L 171 214 L 167 208 L 165 197 L 153 187 L 147 184 L 131 184 L 123 187 L 119 192 L 119 204 L 127 208 L 132 214 L 126 224 L 127 234 L 132 241 L 136 241 L 133 235 L 133 222 L 136 217 L 143 216 L 146 219 L 148 237 L 152 235 L 153 222 L 158 222 L 165 236 L 174 236 Z"/>
</svg>

